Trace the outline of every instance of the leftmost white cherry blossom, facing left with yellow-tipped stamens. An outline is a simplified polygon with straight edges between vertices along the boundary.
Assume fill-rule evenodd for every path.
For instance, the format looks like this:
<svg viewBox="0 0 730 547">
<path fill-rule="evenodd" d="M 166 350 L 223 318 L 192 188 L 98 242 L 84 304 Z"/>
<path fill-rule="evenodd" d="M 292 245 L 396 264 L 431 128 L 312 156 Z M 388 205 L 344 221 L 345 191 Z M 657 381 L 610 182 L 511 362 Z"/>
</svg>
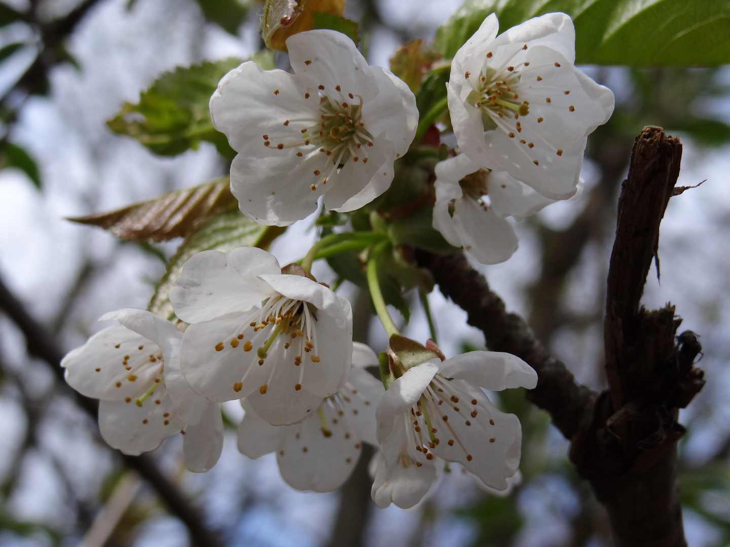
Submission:
<svg viewBox="0 0 730 547">
<path fill-rule="evenodd" d="M 106 319 L 120 325 L 96 333 L 61 361 L 71 387 L 101 400 L 104 441 L 138 455 L 179 431 L 185 467 L 212 468 L 223 449 L 223 421 L 218 404 L 197 395 L 183 378 L 183 333 L 142 309 L 112 311 L 99 320 Z"/>
</svg>

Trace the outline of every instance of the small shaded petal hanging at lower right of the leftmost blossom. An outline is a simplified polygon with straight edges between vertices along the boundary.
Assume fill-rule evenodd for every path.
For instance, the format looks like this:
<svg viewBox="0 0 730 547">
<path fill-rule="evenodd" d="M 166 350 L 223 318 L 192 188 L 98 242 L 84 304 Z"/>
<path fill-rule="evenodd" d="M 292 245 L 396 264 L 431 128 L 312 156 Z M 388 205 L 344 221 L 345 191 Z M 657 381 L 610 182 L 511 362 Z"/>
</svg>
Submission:
<svg viewBox="0 0 730 547">
<path fill-rule="evenodd" d="M 185 468 L 194 473 L 204 473 L 218 462 L 223 451 L 223 419 L 218 403 L 207 401 L 199 421 L 183 430 Z"/>
</svg>

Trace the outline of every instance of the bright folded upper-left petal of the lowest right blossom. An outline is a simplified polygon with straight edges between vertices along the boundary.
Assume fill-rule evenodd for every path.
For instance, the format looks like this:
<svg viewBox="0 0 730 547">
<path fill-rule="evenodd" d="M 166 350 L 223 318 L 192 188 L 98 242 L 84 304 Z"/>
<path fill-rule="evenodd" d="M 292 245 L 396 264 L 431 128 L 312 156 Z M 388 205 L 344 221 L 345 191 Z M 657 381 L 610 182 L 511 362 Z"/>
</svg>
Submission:
<svg viewBox="0 0 730 547">
<path fill-rule="evenodd" d="M 423 395 L 431 379 L 439 370 L 438 359 L 422 362 L 409 368 L 403 376 L 393 381 L 377 406 L 377 441 L 383 442 L 393 432 L 393 422 L 397 422 L 408 408 Z"/>
</svg>

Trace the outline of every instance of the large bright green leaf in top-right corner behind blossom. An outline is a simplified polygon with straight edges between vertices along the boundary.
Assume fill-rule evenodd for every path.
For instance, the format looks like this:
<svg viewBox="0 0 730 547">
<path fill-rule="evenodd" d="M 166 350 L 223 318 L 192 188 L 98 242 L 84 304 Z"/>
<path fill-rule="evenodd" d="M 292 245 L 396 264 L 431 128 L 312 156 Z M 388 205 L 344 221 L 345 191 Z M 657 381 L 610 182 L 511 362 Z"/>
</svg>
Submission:
<svg viewBox="0 0 730 547">
<path fill-rule="evenodd" d="M 466 0 L 437 31 L 453 57 L 491 12 L 499 31 L 550 12 L 573 18 L 576 63 L 715 66 L 730 63 L 728 0 Z"/>
</svg>

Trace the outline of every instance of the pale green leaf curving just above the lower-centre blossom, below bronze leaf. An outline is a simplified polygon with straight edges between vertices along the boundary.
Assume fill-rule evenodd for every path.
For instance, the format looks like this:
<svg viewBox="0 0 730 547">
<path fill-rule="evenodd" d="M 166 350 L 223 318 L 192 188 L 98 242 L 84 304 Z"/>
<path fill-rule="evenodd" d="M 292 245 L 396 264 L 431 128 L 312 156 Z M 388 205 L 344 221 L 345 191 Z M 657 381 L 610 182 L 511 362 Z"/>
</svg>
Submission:
<svg viewBox="0 0 730 547">
<path fill-rule="evenodd" d="M 210 249 L 228 252 L 236 247 L 266 249 L 285 229 L 258 224 L 245 217 L 238 209 L 203 222 L 199 230 L 186 237 L 177 248 L 167 264 L 164 276 L 155 287 L 155 294 L 147 309 L 165 319 L 174 319 L 174 310 L 169 300 L 170 288 L 175 279 L 180 277 L 185 261 L 196 253 Z"/>
</svg>

